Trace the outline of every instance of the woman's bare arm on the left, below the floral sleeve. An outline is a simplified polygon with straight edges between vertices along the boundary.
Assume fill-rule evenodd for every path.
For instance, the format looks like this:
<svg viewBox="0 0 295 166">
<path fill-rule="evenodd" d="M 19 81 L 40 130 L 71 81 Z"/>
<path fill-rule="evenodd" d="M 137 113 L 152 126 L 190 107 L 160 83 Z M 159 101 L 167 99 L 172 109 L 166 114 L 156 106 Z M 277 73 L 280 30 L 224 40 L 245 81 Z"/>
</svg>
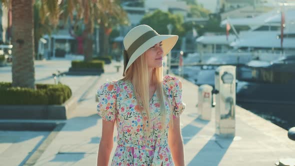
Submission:
<svg viewBox="0 0 295 166">
<path fill-rule="evenodd" d="M 102 120 L 102 134 L 97 153 L 97 166 L 107 166 L 113 146 L 114 121 Z"/>
</svg>

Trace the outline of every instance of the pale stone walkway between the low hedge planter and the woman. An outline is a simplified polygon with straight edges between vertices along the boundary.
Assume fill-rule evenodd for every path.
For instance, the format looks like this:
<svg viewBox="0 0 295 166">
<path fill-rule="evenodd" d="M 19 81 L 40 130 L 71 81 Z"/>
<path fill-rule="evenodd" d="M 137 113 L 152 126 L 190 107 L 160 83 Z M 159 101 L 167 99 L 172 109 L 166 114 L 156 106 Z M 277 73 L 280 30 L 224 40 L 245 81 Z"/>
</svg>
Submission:
<svg viewBox="0 0 295 166">
<path fill-rule="evenodd" d="M 102 83 L 120 78 L 121 72 L 115 71 L 114 64 L 105 65 L 105 73 L 101 74 L 98 81 L 87 89 L 87 93 L 82 96 L 81 101 L 72 111 L 71 117 L 35 165 L 85 165 L 85 163 L 93 165 L 96 163 L 102 119 L 96 113 L 95 94 Z"/>
</svg>

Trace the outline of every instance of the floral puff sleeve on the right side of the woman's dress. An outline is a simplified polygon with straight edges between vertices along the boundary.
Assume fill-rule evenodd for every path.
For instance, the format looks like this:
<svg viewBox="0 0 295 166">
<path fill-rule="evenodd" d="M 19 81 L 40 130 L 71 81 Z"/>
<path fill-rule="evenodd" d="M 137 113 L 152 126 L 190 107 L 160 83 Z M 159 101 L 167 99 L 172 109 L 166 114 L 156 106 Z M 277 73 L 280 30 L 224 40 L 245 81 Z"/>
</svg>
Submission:
<svg viewBox="0 0 295 166">
<path fill-rule="evenodd" d="M 181 81 L 174 76 L 165 75 L 164 79 L 172 97 L 172 111 L 174 117 L 179 117 L 185 109 L 185 103 L 182 101 L 182 84 Z"/>
</svg>

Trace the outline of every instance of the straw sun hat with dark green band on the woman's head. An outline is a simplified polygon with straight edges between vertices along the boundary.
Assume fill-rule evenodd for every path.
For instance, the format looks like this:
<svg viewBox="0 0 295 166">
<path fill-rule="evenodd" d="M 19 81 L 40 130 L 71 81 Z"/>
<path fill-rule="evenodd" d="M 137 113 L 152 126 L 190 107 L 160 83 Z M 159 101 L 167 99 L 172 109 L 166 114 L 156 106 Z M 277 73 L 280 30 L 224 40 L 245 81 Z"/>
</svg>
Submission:
<svg viewBox="0 0 295 166">
<path fill-rule="evenodd" d="M 178 39 L 177 35 L 158 34 L 148 25 L 138 25 L 133 27 L 124 37 L 124 71 L 148 48 L 162 41 L 163 56 L 165 56 L 175 45 Z"/>
</svg>

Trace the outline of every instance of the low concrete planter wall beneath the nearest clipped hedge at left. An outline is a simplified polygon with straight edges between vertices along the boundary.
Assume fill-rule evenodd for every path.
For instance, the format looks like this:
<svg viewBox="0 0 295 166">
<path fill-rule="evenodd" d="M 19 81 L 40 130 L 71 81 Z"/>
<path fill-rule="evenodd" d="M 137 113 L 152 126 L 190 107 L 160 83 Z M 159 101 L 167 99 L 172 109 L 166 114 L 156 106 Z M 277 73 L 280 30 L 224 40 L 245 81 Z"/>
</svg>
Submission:
<svg viewBox="0 0 295 166">
<path fill-rule="evenodd" d="M 0 119 L 67 119 L 77 100 L 70 97 L 61 105 L 0 105 Z"/>
</svg>

